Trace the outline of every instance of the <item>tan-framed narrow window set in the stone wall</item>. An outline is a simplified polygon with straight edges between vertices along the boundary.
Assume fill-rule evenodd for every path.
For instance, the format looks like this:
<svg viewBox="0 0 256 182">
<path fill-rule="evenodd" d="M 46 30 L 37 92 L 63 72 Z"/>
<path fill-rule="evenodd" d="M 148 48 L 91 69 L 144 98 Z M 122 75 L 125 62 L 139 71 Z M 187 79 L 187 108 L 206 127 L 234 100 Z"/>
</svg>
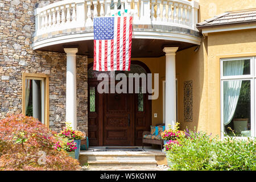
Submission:
<svg viewBox="0 0 256 182">
<path fill-rule="evenodd" d="M 22 113 L 48 126 L 49 77 L 44 74 L 22 74 Z"/>
</svg>

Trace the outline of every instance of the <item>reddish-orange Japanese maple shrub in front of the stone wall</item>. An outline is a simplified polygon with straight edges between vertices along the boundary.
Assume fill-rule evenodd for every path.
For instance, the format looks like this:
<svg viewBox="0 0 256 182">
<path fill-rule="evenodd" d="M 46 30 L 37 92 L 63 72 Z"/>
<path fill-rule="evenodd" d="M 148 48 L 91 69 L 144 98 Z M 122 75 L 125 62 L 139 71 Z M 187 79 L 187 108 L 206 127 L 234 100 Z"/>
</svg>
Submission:
<svg viewBox="0 0 256 182">
<path fill-rule="evenodd" d="M 53 148 L 53 131 L 32 117 L 9 115 L 0 121 L 0 170 L 77 170 L 79 162 Z"/>
</svg>

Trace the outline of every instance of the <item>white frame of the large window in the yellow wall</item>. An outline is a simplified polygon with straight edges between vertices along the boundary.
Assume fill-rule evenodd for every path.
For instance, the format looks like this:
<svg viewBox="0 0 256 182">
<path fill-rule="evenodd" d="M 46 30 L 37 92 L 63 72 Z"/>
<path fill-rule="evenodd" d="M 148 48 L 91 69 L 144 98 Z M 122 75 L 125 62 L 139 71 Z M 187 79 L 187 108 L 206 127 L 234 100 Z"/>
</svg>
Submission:
<svg viewBox="0 0 256 182">
<path fill-rule="evenodd" d="M 223 63 L 224 61 L 234 61 L 234 60 L 247 60 L 250 59 L 250 75 L 236 75 L 236 76 L 223 76 Z M 223 95 L 223 82 L 224 81 L 232 81 L 232 80 L 250 80 L 250 86 L 251 86 L 251 137 L 256 137 L 256 121 L 255 121 L 255 114 L 256 114 L 256 110 L 255 110 L 255 86 L 256 86 L 256 57 L 234 57 L 234 58 L 226 58 L 226 59 L 221 59 L 220 60 L 220 78 L 221 78 L 221 82 L 220 82 L 220 93 L 221 93 L 221 97 L 220 97 L 220 101 L 221 101 L 221 139 L 225 138 L 224 137 L 224 114 L 223 114 L 223 107 L 224 107 L 224 95 Z M 245 139 L 247 137 L 236 137 L 238 139 Z"/>
</svg>

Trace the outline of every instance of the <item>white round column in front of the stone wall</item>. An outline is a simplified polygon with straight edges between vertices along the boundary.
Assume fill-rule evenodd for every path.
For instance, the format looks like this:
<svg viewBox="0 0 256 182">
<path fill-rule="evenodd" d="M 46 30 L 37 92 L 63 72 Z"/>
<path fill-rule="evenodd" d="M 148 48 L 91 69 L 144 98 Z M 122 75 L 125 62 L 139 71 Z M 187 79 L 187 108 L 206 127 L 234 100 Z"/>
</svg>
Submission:
<svg viewBox="0 0 256 182">
<path fill-rule="evenodd" d="M 76 53 L 78 49 L 64 48 L 64 51 L 67 53 L 66 121 L 71 123 L 73 130 L 76 130 Z"/>
</svg>

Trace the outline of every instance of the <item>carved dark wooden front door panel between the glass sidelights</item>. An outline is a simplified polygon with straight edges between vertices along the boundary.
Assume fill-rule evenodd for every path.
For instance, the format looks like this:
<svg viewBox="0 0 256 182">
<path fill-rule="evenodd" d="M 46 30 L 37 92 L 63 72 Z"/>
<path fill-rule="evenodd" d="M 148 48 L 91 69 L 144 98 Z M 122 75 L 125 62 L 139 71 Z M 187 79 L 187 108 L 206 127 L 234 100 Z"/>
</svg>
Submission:
<svg viewBox="0 0 256 182">
<path fill-rule="evenodd" d="M 103 145 L 134 145 L 134 94 L 108 93 L 103 98 Z"/>
</svg>

